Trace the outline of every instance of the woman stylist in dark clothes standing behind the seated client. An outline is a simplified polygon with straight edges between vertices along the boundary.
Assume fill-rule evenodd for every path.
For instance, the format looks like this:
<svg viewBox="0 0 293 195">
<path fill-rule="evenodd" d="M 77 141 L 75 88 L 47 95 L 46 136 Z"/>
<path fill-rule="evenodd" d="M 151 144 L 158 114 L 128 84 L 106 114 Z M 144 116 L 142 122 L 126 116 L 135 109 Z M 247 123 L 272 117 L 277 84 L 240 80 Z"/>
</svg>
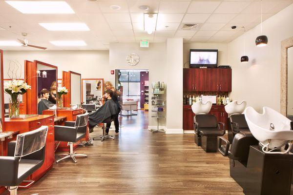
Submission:
<svg viewBox="0 0 293 195">
<path fill-rule="evenodd" d="M 105 88 L 106 88 L 106 90 L 112 90 L 113 91 L 112 99 L 117 104 L 118 113 L 120 113 L 121 108 L 120 108 L 120 104 L 119 104 L 119 101 L 118 101 L 118 96 L 121 96 L 121 92 L 116 90 L 113 87 L 112 83 L 109 82 L 109 81 L 105 82 Z M 119 135 L 119 120 L 118 120 L 118 116 L 119 116 L 119 114 L 115 115 L 115 117 L 113 118 L 114 125 L 115 125 L 115 136 Z M 106 125 L 106 135 L 108 135 L 108 133 L 109 133 L 110 126 L 111 126 L 111 123 L 110 122 L 107 123 L 107 125 Z"/>
</svg>

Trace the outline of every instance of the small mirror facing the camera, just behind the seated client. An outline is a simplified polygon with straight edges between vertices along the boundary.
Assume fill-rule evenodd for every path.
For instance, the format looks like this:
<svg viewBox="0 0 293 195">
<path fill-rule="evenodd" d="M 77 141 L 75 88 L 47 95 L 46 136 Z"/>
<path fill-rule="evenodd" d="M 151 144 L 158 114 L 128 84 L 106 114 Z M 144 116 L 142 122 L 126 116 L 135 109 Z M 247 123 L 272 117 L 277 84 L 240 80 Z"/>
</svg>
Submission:
<svg viewBox="0 0 293 195">
<path fill-rule="evenodd" d="M 82 83 L 83 104 L 102 105 L 104 78 L 83 78 Z"/>
</svg>

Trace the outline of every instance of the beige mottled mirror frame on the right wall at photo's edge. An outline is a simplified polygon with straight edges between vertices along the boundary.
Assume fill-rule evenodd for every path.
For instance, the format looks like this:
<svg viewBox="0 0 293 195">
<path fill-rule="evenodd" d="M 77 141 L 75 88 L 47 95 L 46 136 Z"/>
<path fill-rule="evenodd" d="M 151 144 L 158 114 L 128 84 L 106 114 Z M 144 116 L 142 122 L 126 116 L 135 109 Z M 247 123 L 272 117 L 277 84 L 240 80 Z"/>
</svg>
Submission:
<svg viewBox="0 0 293 195">
<path fill-rule="evenodd" d="M 281 41 L 281 90 L 280 112 L 287 117 L 288 48 L 293 47 L 293 37 Z"/>
</svg>

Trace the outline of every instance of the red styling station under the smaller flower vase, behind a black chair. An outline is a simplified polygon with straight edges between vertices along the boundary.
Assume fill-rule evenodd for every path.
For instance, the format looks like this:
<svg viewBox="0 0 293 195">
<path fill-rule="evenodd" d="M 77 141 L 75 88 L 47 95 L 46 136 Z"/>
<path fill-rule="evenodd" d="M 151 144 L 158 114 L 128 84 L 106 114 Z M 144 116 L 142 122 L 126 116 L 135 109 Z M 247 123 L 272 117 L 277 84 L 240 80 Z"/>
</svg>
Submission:
<svg viewBox="0 0 293 195">
<path fill-rule="evenodd" d="M 43 111 L 43 115 L 53 115 L 53 110 L 44 110 Z M 64 119 L 65 121 L 75 121 L 76 120 L 76 116 L 77 115 L 81 115 L 84 114 L 85 111 L 83 108 L 78 108 L 78 109 L 58 109 L 57 110 L 57 117 L 66 117 L 66 119 Z M 58 125 L 63 125 L 63 124 L 58 124 Z M 89 140 L 89 130 L 87 128 L 86 130 L 86 134 L 85 134 L 85 138 L 83 138 L 82 140 L 88 141 Z M 74 145 L 73 149 L 77 148 L 78 145 Z M 60 145 L 58 146 L 57 151 L 63 151 L 63 152 L 68 152 L 69 150 L 69 146 L 67 145 L 67 142 L 62 141 L 60 143 Z"/>
</svg>

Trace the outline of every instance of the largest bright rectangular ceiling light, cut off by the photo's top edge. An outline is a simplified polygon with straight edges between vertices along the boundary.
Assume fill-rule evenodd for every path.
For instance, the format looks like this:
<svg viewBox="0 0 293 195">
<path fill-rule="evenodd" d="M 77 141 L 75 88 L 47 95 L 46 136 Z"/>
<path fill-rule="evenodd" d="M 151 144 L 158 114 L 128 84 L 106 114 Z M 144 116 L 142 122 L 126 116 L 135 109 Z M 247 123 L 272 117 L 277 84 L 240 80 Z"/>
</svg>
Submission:
<svg viewBox="0 0 293 195">
<path fill-rule="evenodd" d="M 19 1 L 5 0 L 23 14 L 74 14 L 65 1 Z"/>
</svg>

